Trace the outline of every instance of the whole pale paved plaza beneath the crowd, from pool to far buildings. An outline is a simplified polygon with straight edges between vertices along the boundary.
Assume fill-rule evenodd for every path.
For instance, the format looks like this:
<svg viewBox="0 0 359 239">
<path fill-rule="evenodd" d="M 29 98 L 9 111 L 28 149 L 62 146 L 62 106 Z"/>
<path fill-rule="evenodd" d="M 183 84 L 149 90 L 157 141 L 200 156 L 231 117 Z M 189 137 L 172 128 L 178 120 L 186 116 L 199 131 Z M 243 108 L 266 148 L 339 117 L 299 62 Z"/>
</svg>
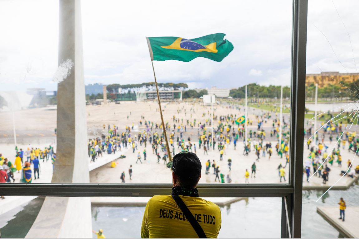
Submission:
<svg viewBox="0 0 359 239">
<path fill-rule="evenodd" d="M 202 106 L 199 102 L 196 104 L 192 102 L 181 102 L 181 103 L 164 103 L 163 104 L 163 115 L 165 122 L 171 125 L 171 130 L 173 130 L 173 124 L 181 124 L 173 122 L 173 115 L 176 118 L 182 120 L 183 124 L 186 125 L 186 120 L 194 120 L 196 119 L 197 123 L 204 123 L 210 117 L 210 107 Z M 238 107 L 240 109 L 238 109 Z M 190 109 L 194 109 L 195 112 L 190 112 Z M 126 126 L 131 126 L 134 124 L 134 129 L 131 131 L 133 136 L 136 136 L 137 133 L 143 132 L 145 130 L 144 125 L 139 124 L 139 120 L 141 116 L 145 116 L 146 121 L 154 121 L 154 124 L 160 124 L 159 112 L 156 111 L 157 104 L 155 102 L 121 102 L 121 104 L 108 104 L 108 105 L 97 105 L 87 106 L 87 124 L 88 124 L 88 137 L 100 137 L 102 134 L 107 134 L 107 127 L 113 124 L 118 126 L 119 132 L 123 132 Z M 185 112 L 186 109 L 186 112 Z M 214 114 L 215 115 L 227 115 L 227 114 L 236 114 L 238 116 L 244 115 L 243 106 L 241 105 L 229 105 L 229 104 L 221 104 L 214 106 Z M 219 180 L 215 181 L 214 168 L 210 167 L 209 174 L 205 173 L 205 162 L 210 160 L 211 164 L 213 164 L 213 160 L 215 161 L 216 166 L 219 166 L 219 174 L 224 175 L 225 183 L 227 183 L 227 175 L 232 180 L 232 183 L 245 183 L 244 173 L 246 169 L 251 173 L 251 166 L 253 163 L 256 164 L 256 175 L 254 177 L 249 178 L 249 184 L 263 184 L 263 183 L 288 183 L 289 176 L 289 164 L 285 167 L 286 173 L 286 181 L 282 180 L 280 182 L 278 166 L 281 163 L 285 166 L 286 160 L 285 157 L 280 158 L 275 151 L 275 145 L 277 143 L 275 137 L 270 137 L 269 132 L 272 130 L 272 119 L 275 117 L 279 117 L 279 114 L 275 115 L 275 113 L 270 113 L 269 111 L 263 111 L 259 109 L 249 108 L 248 120 L 252 120 L 253 124 L 248 125 L 248 132 L 252 130 L 256 131 L 256 115 L 262 115 L 264 112 L 271 114 L 271 119 L 264 123 L 263 129 L 266 131 L 266 139 L 263 141 L 264 144 L 270 142 L 273 147 L 273 154 L 269 159 L 269 155 L 266 156 L 260 154 L 260 158 L 256 161 L 257 156 L 255 155 L 253 144 L 255 140 L 258 142 L 258 138 L 252 137 L 252 146 L 251 152 L 248 156 L 243 155 L 243 138 L 240 138 L 237 142 L 236 150 L 234 149 L 233 142 L 231 142 L 227 148 L 225 149 L 225 154 L 223 155 L 223 160 L 220 161 L 220 155 L 218 148 L 216 147 L 214 150 L 209 149 L 208 154 L 204 154 L 203 147 L 200 149 L 198 147 L 198 127 L 197 125 L 194 128 L 187 126 L 187 132 L 183 133 L 183 138 L 187 140 L 188 137 L 191 138 L 191 143 L 196 144 L 196 153 L 199 156 L 202 162 L 202 177 L 199 183 L 220 183 Z M 125 112 L 125 113 L 122 113 Z M 8 114 L 6 112 L 0 113 L 4 117 Z M 192 114 L 192 117 L 191 117 Z M 284 119 L 288 122 L 289 114 L 283 114 Z M 26 116 L 29 116 L 28 118 Z M 128 116 L 128 119 L 127 119 Z M 9 119 L 8 117 L 4 119 Z M 15 125 L 17 126 L 17 132 L 19 133 L 18 138 L 31 138 L 41 139 L 41 137 L 52 137 L 54 136 L 54 125 L 56 125 L 56 110 L 49 110 L 46 108 L 38 108 L 38 109 L 30 109 L 15 112 Z M 4 131 L 0 137 L 3 138 L 11 138 L 11 122 L 10 120 L 3 120 L 0 122 L 0 128 Z M 103 129 L 103 124 L 105 124 L 105 129 Z M 214 121 L 214 126 L 218 125 L 218 121 Z M 209 127 L 208 127 L 209 128 Z M 237 128 L 237 127 L 236 127 Z M 209 130 L 209 129 L 208 129 Z M 161 132 L 160 129 L 153 129 L 153 132 L 157 131 Z M 22 135 L 21 132 L 32 132 L 30 135 Z M 153 133 L 152 132 L 152 133 Z M 170 131 L 169 131 L 170 132 Z M 168 132 L 168 133 L 169 133 Z M 5 134 L 6 133 L 6 134 Z M 17 133 L 17 134 L 18 134 Z M 38 135 L 37 135 L 38 134 Z M 179 133 L 176 131 L 175 138 Z M 4 136 L 6 135 L 6 137 Z M 43 135 L 43 136 L 42 136 Z M 249 134 L 248 134 L 249 137 Z M 328 137 L 326 137 L 328 138 Z M 10 140 L 11 141 L 11 140 Z M 40 142 L 40 141 L 39 141 Z M 187 143 L 187 141 L 185 141 Z M 335 141 L 333 143 L 329 143 L 327 141 L 324 142 L 328 146 L 328 152 L 334 147 Z M 49 145 L 49 143 L 32 143 L 31 147 L 39 147 L 45 148 Z M 53 144 L 56 150 L 56 144 Z M 217 146 L 217 145 L 216 145 Z M 19 148 L 26 149 L 29 147 L 28 144 L 18 145 Z M 303 143 L 304 147 L 304 162 L 306 161 L 309 150 L 307 149 L 307 145 L 305 142 Z M 348 145 L 346 145 L 348 147 Z M 163 152 L 160 152 L 161 159 L 159 163 L 157 163 L 157 157 L 153 154 L 151 145 L 148 143 L 146 147 L 147 158 L 144 161 L 143 158 L 143 150 L 145 149 L 144 145 L 138 144 L 135 153 L 132 153 L 132 149 L 124 149 L 122 147 L 121 152 L 117 152 L 116 154 L 108 155 L 107 153 L 103 153 L 103 157 L 98 157 L 95 163 L 89 162 L 89 171 L 90 171 L 90 182 L 91 183 L 121 183 L 120 175 L 122 172 L 125 172 L 125 181 L 126 183 L 171 183 L 171 171 L 165 167 L 164 161 L 162 160 Z M 194 147 L 192 147 L 194 151 Z M 172 151 L 172 150 L 171 150 Z M 11 162 L 14 163 L 15 159 L 15 148 L 13 144 L 1 144 L 0 152 L 3 155 L 10 159 Z M 137 153 L 140 152 L 141 161 L 136 163 Z M 175 153 L 180 152 L 177 145 L 175 145 Z M 126 156 L 125 158 L 120 158 L 120 155 L 123 154 Z M 306 176 L 303 176 L 303 189 L 323 189 L 326 190 L 328 187 L 334 185 L 340 178 L 340 172 L 342 170 L 346 171 L 347 166 L 346 162 L 348 159 L 353 161 L 354 153 L 348 152 L 348 148 L 341 149 L 342 155 L 342 167 L 340 168 L 337 163 L 334 162 L 333 166 L 329 166 L 331 168 L 329 181 L 326 184 L 322 183 L 322 178 L 319 178 L 317 175 L 311 178 L 309 182 L 306 181 Z M 228 167 L 228 159 L 232 159 L 231 170 Z M 111 167 L 111 162 L 115 160 L 117 166 L 115 168 Z M 353 161 L 353 167 L 359 164 L 358 159 L 355 157 Z M 41 172 L 40 179 L 33 180 L 32 183 L 50 183 L 52 178 L 52 164 L 51 160 L 48 162 L 41 162 Z M 132 180 L 129 178 L 128 169 L 132 165 Z M 329 165 L 329 164 L 328 164 Z M 311 169 L 311 173 L 313 170 Z M 20 173 L 15 172 L 15 182 L 19 182 Z M 332 188 L 335 189 L 346 189 L 348 188 L 356 178 L 352 179 L 347 176 L 341 178 L 339 182 Z M 16 205 L 20 205 L 25 201 L 31 200 L 30 197 L 6 197 L 6 200 L 0 201 L 0 208 L 13 208 Z M 5 206 L 6 205 L 6 206 Z M 0 214 L 4 211 L 0 211 Z"/>
</svg>

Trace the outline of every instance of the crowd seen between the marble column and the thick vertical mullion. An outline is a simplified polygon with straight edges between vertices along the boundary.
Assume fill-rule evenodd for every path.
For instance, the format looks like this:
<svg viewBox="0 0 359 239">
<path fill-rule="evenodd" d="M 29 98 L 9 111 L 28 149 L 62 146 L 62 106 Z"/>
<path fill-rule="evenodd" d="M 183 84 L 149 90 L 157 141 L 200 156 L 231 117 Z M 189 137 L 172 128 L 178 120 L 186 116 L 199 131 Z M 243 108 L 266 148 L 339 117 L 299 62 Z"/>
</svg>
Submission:
<svg viewBox="0 0 359 239">
<path fill-rule="evenodd" d="M 239 110 L 238 106 L 234 105 L 228 105 L 226 107 L 228 107 L 228 109 Z M 194 114 L 196 111 L 197 114 Z M 194 104 L 190 107 L 178 107 L 178 114 L 171 116 L 171 120 L 165 121 L 169 149 L 172 155 L 181 151 L 199 154 L 201 152 L 200 150 L 203 150 L 203 154 L 208 155 L 210 150 L 218 150 L 219 161 L 227 161 L 228 168 L 220 169 L 215 159 L 206 161 L 205 164 L 206 174 L 209 174 L 209 169 L 213 168 L 215 181 L 218 179 L 221 183 L 232 182 L 230 173 L 232 158 L 225 158 L 225 155 L 228 148 L 236 150 L 238 143 L 243 142 L 243 156 L 248 156 L 252 152 L 252 154 L 255 154 L 256 162 L 259 162 L 261 158 L 268 157 L 268 160 L 271 159 L 274 150 L 271 142 L 274 140 L 278 141 L 280 138 L 278 114 L 275 114 L 275 117 L 272 118 L 271 113 L 262 113 L 255 115 L 255 120 L 247 119 L 245 122 L 248 125 L 248 132 L 247 140 L 245 140 L 244 123 L 236 124 L 236 119 L 240 115 L 214 114 L 213 119 L 211 119 L 212 115 L 210 111 L 203 111 L 201 113 L 201 120 L 198 120 L 194 118 L 194 115 L 198 115 L 198 111 L 198 109 L 195 110 Z M 181 118 L 180 116 L 183 116 L 183 114 L 185 117 Z M 254 128 L 253 121 L 257 121 L 257 125 L 255 126 L 257 130 L 252 130 Z M 264 125 L 269 125 L 267 124 L 270 123 L 269 121 L 272 121 L 272 127 L 270 130 L 267 129 L 268 132 L 266 132 Z M 213 131 L 211 129 L 212 123 L 214 124 Z M 101 137 L 90 139 L 88 142 L 88 155 L 91 158 L 91 162 L 95 162 L 98 158 L 103 157 L 103 154 L 113 154 L 117 151 L 122 151 L 122 149 L 128 149 L 129 153 L 126 154 L 127 157 L 136 159 L 136 161 L 132 163 L 145 162 L 150 151 L 152 151 L 155 159 L 157 159 L 157 164 L 162 164 L 162 162 L 166 164 L 168 162 L 168 153 L 162 124 L 159 122 L 146 120 L 145 116 L 141 115 L 141 118 L 138 119 L 136 123 L 125 126 L 125 130 L 119 130 L 118 126 L 111 126 L 109 124 L 103 125 L 103 130 L 106 131 L 106 133 L 102 134 Z M 195 132 L 197 136 L 194 135 Z M 151 150 L 146 148 L 147 144 L 150 145 Z M 147 152 L 146 149 L 149 150 L 149 152 Z M 278 169 L 281 171 L 279 181 L 281 181 L 282 178 L 285 180 L 284 168 L 289 163 L 289 126 L 285 121 L 283 122 L 281 144 L 277 143 L 275 150 L 280 158 L 285 158 L 285 165 L 282 167 L 280 164 L 280 167 L 283 169 Z M 134 154 L 134 156 L 131 156 L 130 152 Z M 121 157 L 126 156 L 121 155 Z M 112 165 L 116 167 L 115 163 Z M 256 169 L 252 167 L 252 171 L 255 172 Z M 246 173 L 244 171 L 243 173 L 244 177 L 246 177 Z M 124 174 L 125 172 L 121 173 L 122 182 L 125 181 Z"/>
</svg>

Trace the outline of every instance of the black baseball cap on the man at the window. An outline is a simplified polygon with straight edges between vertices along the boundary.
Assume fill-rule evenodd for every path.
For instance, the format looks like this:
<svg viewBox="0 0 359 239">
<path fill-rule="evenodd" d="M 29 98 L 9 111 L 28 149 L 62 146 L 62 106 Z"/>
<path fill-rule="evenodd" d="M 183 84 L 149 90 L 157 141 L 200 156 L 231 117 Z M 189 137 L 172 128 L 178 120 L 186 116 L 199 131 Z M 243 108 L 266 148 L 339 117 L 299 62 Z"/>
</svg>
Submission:
<svg viewBox="0 0 359 239">
<path fill-rule="evenodd" d="M 167 163 L 167 168 L 171 168 L 178 176 L 193 178 L 201 174 L 202 164 L 196 154 L 182 151 Z"/>
</svg>

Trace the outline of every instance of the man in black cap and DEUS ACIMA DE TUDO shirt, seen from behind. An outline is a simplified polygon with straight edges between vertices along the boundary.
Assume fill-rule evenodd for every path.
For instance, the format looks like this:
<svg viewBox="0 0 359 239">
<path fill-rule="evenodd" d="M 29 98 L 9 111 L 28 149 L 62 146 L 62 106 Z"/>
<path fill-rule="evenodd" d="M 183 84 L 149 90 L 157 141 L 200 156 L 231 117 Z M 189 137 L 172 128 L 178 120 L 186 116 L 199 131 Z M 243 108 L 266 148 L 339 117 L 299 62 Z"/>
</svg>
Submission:
<svg viewBox="0 0 359 239">
<path fill-rule="evenodd" d="M 201 162 L 183 151 L 167 164 L 172 169 L 172 195 L 153 196 L 146 205 L 141 238 L 217 238 L 221 212 L 213 202 L 201 199 L 196 188 Z"/>
</svg>

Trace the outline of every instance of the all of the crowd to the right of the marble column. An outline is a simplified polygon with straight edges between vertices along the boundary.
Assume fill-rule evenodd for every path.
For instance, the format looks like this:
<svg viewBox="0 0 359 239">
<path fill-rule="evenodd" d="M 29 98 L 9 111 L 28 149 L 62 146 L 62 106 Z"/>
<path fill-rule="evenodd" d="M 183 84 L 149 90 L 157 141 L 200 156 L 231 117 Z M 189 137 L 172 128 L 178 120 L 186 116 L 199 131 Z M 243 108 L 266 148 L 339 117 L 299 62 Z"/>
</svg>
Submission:
<svg viewBox="0 0 359 239">
<path fill-rule="evenodd" d="M 230 105 L 227 106 L 228 109 L 239 110 L 239 106 Z M 199 111 L 196 109 L 196 111 Z M 194 152 L 196 154 L 208 155 L 210 150 L 218 151 L 218 161 L 227 161 L 228 168 L 220 168 L 217 159 L 210 159 L 205 161 L 206 165 L 206 175 L 210 174 L 210 168 L 213 170 L 213 177 L 215 182 L 221 183 L 230 183 L 232 182 L 231 178 L 231 167 L 232 167 L 232 158 L 225 158 L 228 148 L 236 150 L 238 148 L 238 143 L 243 145 L 242 156 L 248 157 L 255 155 L 255 162 L 260 166 L 260 161 L 262 159 L 270 160 L 273 157 L 273 154 L 276 154 L 279 158 L 283 159 L 283 164 L 280 163 L 276 169 L 278 170 L 278 180 L 279 182 L 286 182 L 286 167 L 289 165 L 289 124 L 285 121 L 283 117 L 280 122 L 279 115 L 277 112 L 261 112 L 260 114 L 252 114 L 252 118 L 245 120 L 247 123 L 247 138 L 245 139 L 245 125 L 236 124 L 236 119 L 241 115 L 236 114 L 227 114 L 227 115 L 217 115 L 214 114 L 213 118 L 209 110 L 203 111 L 201 113 L 201 120 L 195 119 L 193 115 L 195 112 L 195 105 L 192 104 L 191 107 L 178 107 L 178 115 L 173 115 L 171 117 L 172 122 L 165 121 L 165 129 L 167 131 L 169 148 L 171 154 L 181 151 Z M 184 118 L 181 118 L 185 114 Z M 198 115 L 198 112 L 197 112 Z M 188 117 L 189 116 L 189 117 Z M 213 120 L 213 122 L 212 122 Z M 214 125 L 213 131 L 211 130 L 211 125 Z M 282 123 L 282 124 L 281 124 Z M 255 125 L 256 130 L 253 130 L 253 125 Z M 166 150 L 166 143 L 164 140 L 162 124 L 153 121 L 145 120 L 144 116 L 141 116 L 141 119 L 137 121 L 136 125 L 138 126 L 138 132 L 135 134 L 131 133 L 131 130 L 134 129 L 134 123 L 131 126 L 126 126 L 126 132 L 119 133 L 118 128 L 114 125 L 112 128 L 108 125 L 107 129 L 109 130 L 109 135 L 102 135 L 102 145 L 96 148 L 96 139 L 92 140 L 92 143 L 89 145 L 89 155 L 91 147 L 93 147 L 92 152 L 106 152 L 108 145 L 112 146 L 112 149 L 109 152 L 116 152 L 116 150 L 121 150 L 121 148 L 128 148 L 132 153 L 137 155 L 136 163 L 143 163 L 146 160 L 147 152 L 144 149 L 139 150 L 138 145 L 143 145 L 149 143 L 151 145 L 152 153 L 155 154 L 157 163 L 160 163 L 161 159 L 163 164 L 168 162 L 168 154 Z M 266 127 L 264 127 L 266 125 Z M 282 126 L 282 129 L 280 128 Z M 322 126 L 324 123 L 322 123 Z M 312 133 L 312 125 L 305 130 L 306 135 Z M 188 130 L 191 130 L 192 134 L 188 133 Z M 328 123 L 323 126 L 322 135 L 328 135 L 330 142 L 334 138 L 337 140 L 342 132 L 342 123 L 333 124 Z M 117 132 L 117 133 L 116 133 Z M 197 137 L 193 136 L 193 132 L 197 132 Z M 213 135 L 212 135 L 213 134 Z M 281 134 L 281 135 L 280 135 Z M 317 134 L 317 139 L 318 139 Z M 195 138 L 195 139 L 193 139 Z M 329 153 L 328 147 L 324 144 L 325 136 L 322 136 L 321 142 L 317 140 L 317 143 L 313 143 L 313 139 L 308 140 L 308 149 L 310 149 L 310 154 L 308 159 L 304 159 L 303 175 L 306 174 L 307 178 L 310 177 L 313 173 L 316 173 L 316 176 L 323 178 L 323 183 L 328 181 L 330 166 L 333 165 L 333 162 L 336 160 L 338 166 L 341 167 L 341 154 L 340 150 L 348 147 L 349 152 L 356 152 L 358 149 L 358 140 L 355 139 L 355 133 L 345 132 L 343 139 L 339 140 L 337 144 L 337 149 Z M 243 144 L 242 144 L 243 142 Z M 275 142 L 273 144 L 273 142 Z M 280 143 L 279 143 L 280 142 Z M 113 145 L 116 145 L 113 147 Z M 348 146 L 346 146 L 348 145 Z M 116 149 L 117 148 L 117 149 Z M 200 151 L 203 150 L 203 151 Z M 96 157 L 101 157 L 101 153 L 96 153 Z M 327 160 L 326 160 L 327 159 Z M 322 163 L 325 164 L 322 165 Z M 245 182 L 249 181 L 249 177 L 255 177 L 257 164 L 253 163 L 251 168 L 243 168 L 243 174 Z M 321 166 L 320 166 L 321 165 Z M 348 163 L 348 166 L 350 164 Z M 352 170 L 353 168 L 353 170 Z M 246 171 L 244 171 L 246 170 Z M 247 172 L 251 171 L 250 175 Z M 345 171 L 342 174 L 346 174 L 348 177 L 355 177 L 356 173 L 359 173 L 359 166 L 350 167 L 349 171 Z"/>
</svg>

